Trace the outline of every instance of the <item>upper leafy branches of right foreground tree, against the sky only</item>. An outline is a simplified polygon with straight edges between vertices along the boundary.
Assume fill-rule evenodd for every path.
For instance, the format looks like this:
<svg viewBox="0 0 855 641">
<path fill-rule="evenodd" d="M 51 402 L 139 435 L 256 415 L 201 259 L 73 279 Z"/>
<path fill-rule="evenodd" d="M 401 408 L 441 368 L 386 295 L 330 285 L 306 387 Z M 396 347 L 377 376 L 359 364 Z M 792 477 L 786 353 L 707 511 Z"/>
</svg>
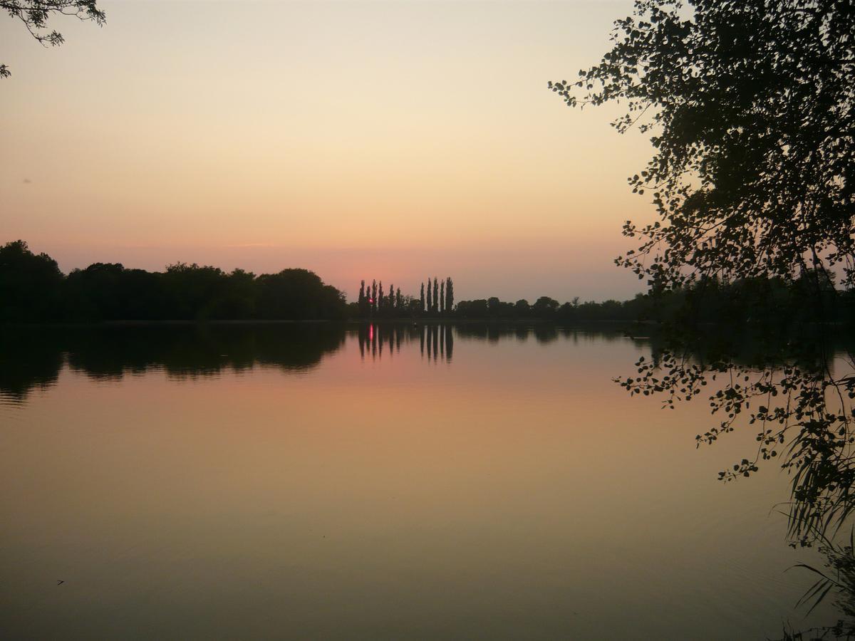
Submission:
<svg viewBox="0 0 855 641">
<path fill-rule="evenodd" d="M 636 2 L 600 64 L 550 84 L 571 106 L 626 104 L 620 132 L 656 132 L 630 184 L 662 220 L 627 221 L 643 242 L 618 264 L 668 288 L 835 265 L 852 285 L 852 3 L 691 6 Z"/>
</svg>

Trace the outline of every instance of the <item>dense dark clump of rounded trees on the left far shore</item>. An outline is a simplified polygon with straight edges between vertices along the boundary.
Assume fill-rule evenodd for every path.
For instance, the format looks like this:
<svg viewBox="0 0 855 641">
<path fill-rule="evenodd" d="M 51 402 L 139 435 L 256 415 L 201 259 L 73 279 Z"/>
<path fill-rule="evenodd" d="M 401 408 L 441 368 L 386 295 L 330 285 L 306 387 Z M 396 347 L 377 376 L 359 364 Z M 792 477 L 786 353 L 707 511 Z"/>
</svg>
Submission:
<svg viewBox="0 0 855 641">
<path fill-rule="evenodd" d="M 64 275 L 18 240 L 0 247 L 0 322 L 335 320 L 344 294 L 306 269 L 256 275 L 183 262 L 163 272 L 96 262 Z"/>
</svg>

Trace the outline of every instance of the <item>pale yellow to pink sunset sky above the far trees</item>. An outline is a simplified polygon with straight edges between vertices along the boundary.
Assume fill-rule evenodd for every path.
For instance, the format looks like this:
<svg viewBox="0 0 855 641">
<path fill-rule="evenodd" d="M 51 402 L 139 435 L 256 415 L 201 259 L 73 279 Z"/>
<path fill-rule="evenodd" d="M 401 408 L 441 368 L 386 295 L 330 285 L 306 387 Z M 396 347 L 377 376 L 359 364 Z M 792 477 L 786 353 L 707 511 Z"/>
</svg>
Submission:
<svg viewBox="0 0 855 641">
<path fill-rule="evenodd" d="M 0 242 L 91 262 L 302 267 L 457 299 L 601 300 L 649 221 L 649 141 L 548 91 L 631 0 L 101 1 L 43 49 L 0 16 Z"/>
</svg>

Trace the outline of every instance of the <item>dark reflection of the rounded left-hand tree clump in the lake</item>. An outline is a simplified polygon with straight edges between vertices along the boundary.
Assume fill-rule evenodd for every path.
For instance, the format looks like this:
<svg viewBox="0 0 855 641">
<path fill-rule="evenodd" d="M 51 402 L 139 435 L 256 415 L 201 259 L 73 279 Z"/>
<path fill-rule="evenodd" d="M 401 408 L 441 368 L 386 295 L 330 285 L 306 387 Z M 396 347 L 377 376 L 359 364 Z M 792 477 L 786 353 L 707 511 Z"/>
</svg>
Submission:
<svg viewBox="0 0 855 641">
<path fill-rule="evenodd" d="M 257 366 L 301 372 L 345 341 L 321 324 L 23 328 L 0 340 L 0 394 L 20 403 L 56 384 L 65 365 L 91 379 L 162 369 L 170 377 L 241 372 Z"/>
</svg>

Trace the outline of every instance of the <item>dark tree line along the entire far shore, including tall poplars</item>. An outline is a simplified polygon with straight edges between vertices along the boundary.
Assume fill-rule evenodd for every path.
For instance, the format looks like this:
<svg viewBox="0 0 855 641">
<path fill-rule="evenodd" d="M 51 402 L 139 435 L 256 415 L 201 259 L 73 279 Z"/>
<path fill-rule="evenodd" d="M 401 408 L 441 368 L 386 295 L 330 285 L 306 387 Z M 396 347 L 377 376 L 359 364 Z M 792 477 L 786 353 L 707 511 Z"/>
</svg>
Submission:
<svg viewBox="0 0 855 641">
<path fill-rule="evenodd" d="M 74 326 L 103 324 L 273 324 L 295 321 L 706 323 L 855 321 L 855 290 L 823 289 L 822 304 L 809 296 L 815 274 L 799 279 L 704 279 L 681 289 L 637 294 L 627 301 L 534 303 L 498 297 L 454 303 L 451 278 L 428 279 L 420 296 L 402 294 L 382 282 L 363 280 L 356 302 L 306 269 L 256 275 L 242 269 L 169 265 L 163 272 L 93 263 L 63 274 L 47 254 L 34 254 L 18 240 L 0 247 L 0 323 Z M 687 313 L 691 310 L 691 313 Z"/>
</svg>

